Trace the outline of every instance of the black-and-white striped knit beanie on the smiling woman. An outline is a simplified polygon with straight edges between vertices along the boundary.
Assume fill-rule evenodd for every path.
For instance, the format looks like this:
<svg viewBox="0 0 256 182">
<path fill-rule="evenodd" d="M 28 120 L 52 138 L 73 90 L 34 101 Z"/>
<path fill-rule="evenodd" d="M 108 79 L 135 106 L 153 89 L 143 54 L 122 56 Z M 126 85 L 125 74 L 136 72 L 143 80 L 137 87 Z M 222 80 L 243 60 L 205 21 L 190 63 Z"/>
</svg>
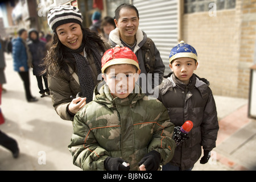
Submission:
<svg viewBox="0 0 256 182">
<path fill-rule="evenodd" d="M 54 7 L 47 15 L 48 25 L 53 31 L 61 24 L 78 23 L 82 26 L 82 14 L 74 6 L 60 5 Z"/>
</svg>

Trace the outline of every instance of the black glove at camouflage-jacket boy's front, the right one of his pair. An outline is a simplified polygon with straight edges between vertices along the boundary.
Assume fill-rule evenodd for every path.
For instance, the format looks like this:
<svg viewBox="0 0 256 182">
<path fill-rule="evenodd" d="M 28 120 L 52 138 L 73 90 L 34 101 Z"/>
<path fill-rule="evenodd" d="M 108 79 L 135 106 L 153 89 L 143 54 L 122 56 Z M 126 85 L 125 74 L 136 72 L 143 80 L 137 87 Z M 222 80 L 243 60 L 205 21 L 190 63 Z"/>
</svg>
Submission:
<svg viewBox="0 0 256 182">
<path fill-rule="evenodd" d="M 144 164 L 147 171 L 157 171 L 160 166 L 161 155 L 158 151 L 152 150 L 139 162 L 139 166 Z"/>
</svg>

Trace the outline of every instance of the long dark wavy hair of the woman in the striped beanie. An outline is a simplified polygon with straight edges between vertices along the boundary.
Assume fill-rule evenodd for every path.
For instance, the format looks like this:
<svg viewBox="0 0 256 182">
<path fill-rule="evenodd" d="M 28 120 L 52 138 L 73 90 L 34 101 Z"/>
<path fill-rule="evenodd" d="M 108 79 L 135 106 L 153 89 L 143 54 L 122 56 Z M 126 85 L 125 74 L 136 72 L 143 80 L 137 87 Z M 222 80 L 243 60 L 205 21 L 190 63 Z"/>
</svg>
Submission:
<svg viewBox="0 0 256 182">
<path fill-rule="evenodd" d="M 92 49 L 100 47 L 102 52 L 105 52 L 104 42 L 95 32 L 91 32 L 89 28 L 82 29 L 82 42 L 85 43 L 85 52 L 90 55 L 93 54 Z M 93 56 L 95 57 L 95 56 Z M 47 56 L 44 58 L 43 66 L 46 69 L 42 74 L 47 73 L 48 75 L 55 76 L 61 72 L 69 72 L 66 63 L 70 63 L 73 71 L 76 71 L 76 65 L 74 62 L 67 60 L 67 51 L 65 51 L 65 46 L 60 42 L 57 34 L 53 34 L 52 46 L 49 49 Z M 53 72 L 49 72 L 53 70 Z"/>
</svg>

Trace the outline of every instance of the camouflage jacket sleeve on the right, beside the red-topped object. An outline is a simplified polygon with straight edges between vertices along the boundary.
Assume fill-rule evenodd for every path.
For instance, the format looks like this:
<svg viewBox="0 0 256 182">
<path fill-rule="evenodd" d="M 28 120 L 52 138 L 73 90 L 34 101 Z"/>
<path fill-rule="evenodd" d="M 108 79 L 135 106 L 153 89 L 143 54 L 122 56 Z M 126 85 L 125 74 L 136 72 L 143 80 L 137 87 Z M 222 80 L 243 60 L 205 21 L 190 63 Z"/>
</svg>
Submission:
<svg viewBox="0 0 256 182">
<path fill-rule="evenodd" d="M 175 141 L 172 139 L 174 133 L 174 124 L 170 122 L 168 111 L 162 105 L 162 112 L 159 113 L 157 123 L 154 127 L 154 135 L 148 145 L 148 152 L 156 150 L 161 155 L 160 165 L 164 165 L 174 156 L 176 147 Z"/>
</svg>

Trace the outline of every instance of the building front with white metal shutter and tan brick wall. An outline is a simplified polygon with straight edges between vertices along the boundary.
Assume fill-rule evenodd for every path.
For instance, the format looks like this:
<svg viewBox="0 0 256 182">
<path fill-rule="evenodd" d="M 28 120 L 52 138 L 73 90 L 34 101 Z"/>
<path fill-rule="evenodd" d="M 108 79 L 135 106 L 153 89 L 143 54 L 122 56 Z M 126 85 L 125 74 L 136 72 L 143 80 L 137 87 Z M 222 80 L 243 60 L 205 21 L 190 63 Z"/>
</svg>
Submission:
<svg viewBox="0 0 256 182">
<path fill-rule="evenodd" d="M 134 0 L 140 28 L 152 38 L 169 68 L 180 40 L 196 48 L 195 71 L 213 94 L 248 98 L 250 67 L 256 63 L 256 2 L 253 0 Z"/>
</svg>

